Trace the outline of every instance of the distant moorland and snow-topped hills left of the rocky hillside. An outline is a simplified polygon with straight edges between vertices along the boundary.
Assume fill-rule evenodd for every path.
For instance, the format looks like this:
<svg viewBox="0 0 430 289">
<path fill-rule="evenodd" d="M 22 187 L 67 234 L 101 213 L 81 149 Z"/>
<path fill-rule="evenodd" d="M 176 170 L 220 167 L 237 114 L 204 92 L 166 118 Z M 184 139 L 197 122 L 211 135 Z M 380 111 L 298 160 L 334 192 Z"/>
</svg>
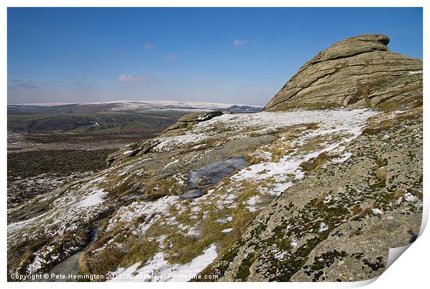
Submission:
<svg viewBox="0 0 430 289">
<path fill-rule="evenodd" d="M 8 206 L 105 168 L 107 155 L 160 134 L 189 112 L 256 107 L 152 101 L 8 105 Z"/>
</svg>

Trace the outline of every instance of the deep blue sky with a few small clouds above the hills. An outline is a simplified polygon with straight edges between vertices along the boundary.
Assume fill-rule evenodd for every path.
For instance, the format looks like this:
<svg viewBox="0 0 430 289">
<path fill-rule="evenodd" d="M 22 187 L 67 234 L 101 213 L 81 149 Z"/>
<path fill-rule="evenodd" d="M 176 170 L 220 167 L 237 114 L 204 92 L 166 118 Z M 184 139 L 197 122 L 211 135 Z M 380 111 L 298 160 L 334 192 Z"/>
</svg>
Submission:
<svg viewBox="0 0 430 289">
<path fill-rule="evenodd" d="M 422 8 L 8 8 L 8 103 L 264 105 L 318 51 L 363 33 L 422 58 Z"/>
</svg>

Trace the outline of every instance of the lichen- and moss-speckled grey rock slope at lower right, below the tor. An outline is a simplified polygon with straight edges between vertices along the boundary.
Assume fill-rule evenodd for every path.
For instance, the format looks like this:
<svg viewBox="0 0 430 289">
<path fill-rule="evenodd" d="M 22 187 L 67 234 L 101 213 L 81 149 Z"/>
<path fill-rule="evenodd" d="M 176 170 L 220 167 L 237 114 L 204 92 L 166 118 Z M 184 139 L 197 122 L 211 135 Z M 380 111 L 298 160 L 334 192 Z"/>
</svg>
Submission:
<svg viewBox="0 0 430 289">
<path fill-rule="evenodd" d="M 208 268 L 218 281 L 360 281 L 388 249 L 412 243 L 422 218 L 422 109 L 381 114 L 349 159 L 291 187 Z M 391 115 L 392 116 L 392 115 Z"/>
</svg>

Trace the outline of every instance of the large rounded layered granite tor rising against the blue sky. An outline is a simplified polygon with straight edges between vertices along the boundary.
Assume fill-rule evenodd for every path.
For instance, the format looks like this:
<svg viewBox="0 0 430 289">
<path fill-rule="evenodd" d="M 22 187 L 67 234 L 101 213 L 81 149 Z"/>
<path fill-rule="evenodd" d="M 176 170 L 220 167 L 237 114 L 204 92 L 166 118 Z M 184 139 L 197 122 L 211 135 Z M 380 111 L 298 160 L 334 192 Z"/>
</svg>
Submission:
<svg viewBox="0 0 430 289">
<path fill-rule="evenodd" d="M 264 110 L 293 107 L 390 108 L 422 100 L 422 60 L 388 49 L 389 38 L 365 34 L 318 53 Z"/>
</svg>

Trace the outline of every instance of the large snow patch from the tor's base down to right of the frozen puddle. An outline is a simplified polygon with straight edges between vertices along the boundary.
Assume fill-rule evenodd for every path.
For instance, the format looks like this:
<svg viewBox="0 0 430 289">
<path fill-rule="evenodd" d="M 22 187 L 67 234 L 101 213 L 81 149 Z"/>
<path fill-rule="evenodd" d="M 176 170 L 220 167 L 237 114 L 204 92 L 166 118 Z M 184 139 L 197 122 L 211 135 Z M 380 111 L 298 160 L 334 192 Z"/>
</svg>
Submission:
<svg viewBox="0 0 430 289">
<path fill-rule="evenodd" d="M 275 184 L 268 191 L 274 195 L 279 195 L 290 186 L 293 186 L 295 181 L 304 177 L 304 172 L 300 168 L 302 162 L 316 158 L 322 152 L 342 152 L 345 149 L 343 144 L 359 137 L 365 120 L 375 115 L 375 112 L 371 110 L 301 111 L 300 116 L 297 113 L 282 112 L 283 116 L 270 116 L 262 122 L 273 121 L 273 126 L 276 126 L 277 121 L 283 118 L 290 125 L 315 123 L 321 119 L 324 121 L 319 123 L 320 128 L 304 131 L 300 137 L 289 142 L 286 141 L 292 148 L 295 148 L 293 152 L 285 155 L 279 161 L 264 161 L 248 166 L 232 176 L 234 181 L 273 179 Z M 252 121 L 249 123 L 252 123 Z M 310 151 L 302 149 L 305 144 L 318 137 L 325 139 L 325 142 L 320 141 L 318 143 L 322 145 L 322 148 Z M 334 137 L 339 137 L 339 139 Z M 345 161 L 349 157 L 350 155 L 345 155 L 337 161 Z"/>
</svg>

